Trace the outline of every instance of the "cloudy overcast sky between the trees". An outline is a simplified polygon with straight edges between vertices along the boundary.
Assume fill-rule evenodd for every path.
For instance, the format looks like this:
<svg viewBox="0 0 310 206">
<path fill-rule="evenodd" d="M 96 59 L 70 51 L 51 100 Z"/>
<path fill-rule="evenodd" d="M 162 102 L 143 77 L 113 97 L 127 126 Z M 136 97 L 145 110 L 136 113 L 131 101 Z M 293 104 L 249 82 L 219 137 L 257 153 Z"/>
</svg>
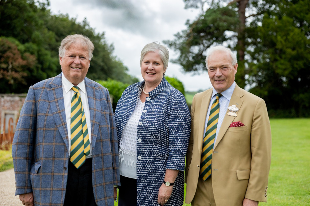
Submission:
<svg viewBox="0 0 310 206">
<path fill-rule="evenodd" d="M 142 79 L 140 54 L 153 41 L 173 40 L 174 34 L 186 28 L 187 19 L 195 19 L 199 10 L 184 9 L 183 0 L 50 0 L 53 14 L 68 14 L 78 22 L 87 19 L 95 32 L 105 32 L 113 55 L 128 67 L 129 74 Z M 166 45 L 167 46 L 167 45 Z M 177 54 L 169 49 L 169 60 Z M 169 61 L 166 75 L 176 77 L 186 91 L 211 87 L 208 74 L 185 73 L 179 64 Z"/>
</svg>

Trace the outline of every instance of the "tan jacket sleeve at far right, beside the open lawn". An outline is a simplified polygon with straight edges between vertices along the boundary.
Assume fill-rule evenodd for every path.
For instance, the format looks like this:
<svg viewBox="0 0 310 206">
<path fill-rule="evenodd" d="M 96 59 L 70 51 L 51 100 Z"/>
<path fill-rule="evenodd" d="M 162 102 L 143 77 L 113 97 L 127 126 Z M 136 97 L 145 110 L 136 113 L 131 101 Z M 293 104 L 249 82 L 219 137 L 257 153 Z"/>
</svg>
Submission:
<svg viewBox="0 0 310 206">
<path fill-rule="evenodd" d="M 245 197 L 266 202 L 265 192 L 271 163 L 271 128 L 266 104 L 260 99 L 255 107 L 251 128 L 251 172 Z"/>
</svg>

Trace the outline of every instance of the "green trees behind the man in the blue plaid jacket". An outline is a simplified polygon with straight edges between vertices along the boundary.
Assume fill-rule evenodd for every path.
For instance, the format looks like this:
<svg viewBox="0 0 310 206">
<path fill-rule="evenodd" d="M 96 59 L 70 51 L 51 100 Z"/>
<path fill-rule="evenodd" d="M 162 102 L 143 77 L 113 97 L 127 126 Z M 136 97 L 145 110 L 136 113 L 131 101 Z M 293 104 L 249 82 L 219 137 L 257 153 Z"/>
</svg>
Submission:
<svg viewBox="0 0 310 206">
<path fill-rule="evenodd" d="M 18 49 L 15 58 L 20 56 L 28 65 L 23 66 L 23 71 L 20 71 L 21 66 L 12 65 L 18 78 L 13 78 L 14 87 L 7 88 L 3 83 L 0 93 L 27 92 L 30 85 L 59 74 L 60 42 L 65 36 L 76 33 L 89 37 L 95 45 L 88 78 L 111 78 L 126 84 L 135 82 L 136 79 L 126 73 L 128 68 L 113 55 L 113 45 L 106 43 L 104 33 L 96 34 L 86 19 L 78 23 L 68 14 L 51 15 L 48 6 L 48 0 L 0 1 L 0 36 L 10 37 L 10 42 Z M 15 47 L 10 48 L 12 53 Z M 9 81 L 2 76 L 0 80 Z"/>
</svg>

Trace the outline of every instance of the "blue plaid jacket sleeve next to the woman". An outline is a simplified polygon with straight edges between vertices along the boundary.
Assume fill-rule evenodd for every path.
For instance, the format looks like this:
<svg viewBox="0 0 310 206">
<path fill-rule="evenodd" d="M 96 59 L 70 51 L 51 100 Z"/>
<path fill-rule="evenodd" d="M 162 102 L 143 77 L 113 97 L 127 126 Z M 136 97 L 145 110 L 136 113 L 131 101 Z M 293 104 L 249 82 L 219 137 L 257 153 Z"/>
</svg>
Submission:
<svg viewBox="0 0 310 206">
<path fill-rule="evenodd" d="M 107 102 L 109 107 L 109 121 L 110 121 L 110 142 L 111 142 L 111 152 L 112 152 L 112 164 L 113 164 L 113 184 L 120 186 L 120 179 L 119 179 L 119 153 L 118 153 L 118 143 L 117 143 L 117 131 L 116 131 L 116 124 L 115 124 L 115 117 L 113 114 L 112 104 L 110 100 L 110 95 L 107 90 Z"/>
</svg>

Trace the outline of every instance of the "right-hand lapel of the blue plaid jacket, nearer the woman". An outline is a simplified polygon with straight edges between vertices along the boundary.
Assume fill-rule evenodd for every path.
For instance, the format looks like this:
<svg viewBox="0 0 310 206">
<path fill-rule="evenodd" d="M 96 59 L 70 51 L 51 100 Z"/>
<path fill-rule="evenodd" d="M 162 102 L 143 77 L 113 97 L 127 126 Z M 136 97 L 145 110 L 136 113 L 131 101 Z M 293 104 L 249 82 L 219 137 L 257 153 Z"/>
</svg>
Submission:
<svg viewBox="0 0 310 206">
<path fill-rule="evenodd" d="M 101 97 L 101 92 L 97 85 L 88 78 L 85 78 L 85 87 L 91 117 L 91 147 L 94 149 L 101 117 L 100 99 L 103 97 Z"/>
</svg>

